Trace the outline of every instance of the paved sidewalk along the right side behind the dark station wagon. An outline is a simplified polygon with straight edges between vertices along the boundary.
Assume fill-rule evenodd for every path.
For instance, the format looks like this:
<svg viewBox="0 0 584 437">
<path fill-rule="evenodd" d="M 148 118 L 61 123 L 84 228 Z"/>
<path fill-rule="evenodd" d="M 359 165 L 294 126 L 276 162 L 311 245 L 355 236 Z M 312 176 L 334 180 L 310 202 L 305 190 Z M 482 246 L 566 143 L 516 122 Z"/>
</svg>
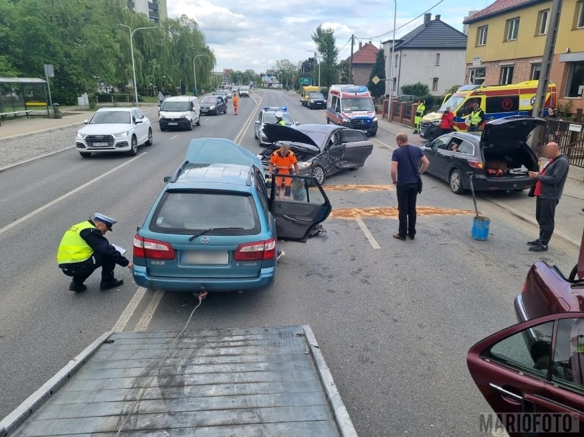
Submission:
<svg viewBox="0 0 584 437">
<path fill-rule="evenodd" d="M 378 127 L 394 136 L 399 132 L 405 132 L 408 134 L 411 144 L 424 145 L 427 142 L 426 139 L 413 134 L 411 127 L 390 123 L 382 118 L 379 118 Z M 509 195 L 493 192 L 485 193 L 481 197 L 483 200 L 494 203 L 514 216 L 518 216 L 524 221 L 537 226 L 535 221 L 535 201 L 527 197 L 527 192 L 515 192 Z M 584 227 L 582 208 L 584 208 L 584 168 L 570 166 L 563 195 L 556 209 L 555 235 L 572 242 L 576 246 L 580 245 Z"/>
</svg>

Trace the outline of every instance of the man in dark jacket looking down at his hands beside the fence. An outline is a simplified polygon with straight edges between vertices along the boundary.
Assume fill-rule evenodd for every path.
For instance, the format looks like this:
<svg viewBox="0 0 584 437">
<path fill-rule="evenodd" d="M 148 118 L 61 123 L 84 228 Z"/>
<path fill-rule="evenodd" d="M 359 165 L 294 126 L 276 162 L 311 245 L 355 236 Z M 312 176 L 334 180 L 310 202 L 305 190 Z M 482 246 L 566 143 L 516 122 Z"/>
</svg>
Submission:
<svg viewBox="0 0 584 437">
<path fill-rule="evenodd" d="M 570 160 L 561 153 L 557 142 L 548 142 L 542 147 L 542 156 L 548 158 L 544 168 L 539 172 L 528 173 L 529 177 L 536 179 L 529 196 L 535 197 L 535 219 L 539 225 L 539 238 L 527 243 L 532 252 L 548 250 L 548 244 L 554 233 L 556 206 L 570 168 Z"/>
</svg>

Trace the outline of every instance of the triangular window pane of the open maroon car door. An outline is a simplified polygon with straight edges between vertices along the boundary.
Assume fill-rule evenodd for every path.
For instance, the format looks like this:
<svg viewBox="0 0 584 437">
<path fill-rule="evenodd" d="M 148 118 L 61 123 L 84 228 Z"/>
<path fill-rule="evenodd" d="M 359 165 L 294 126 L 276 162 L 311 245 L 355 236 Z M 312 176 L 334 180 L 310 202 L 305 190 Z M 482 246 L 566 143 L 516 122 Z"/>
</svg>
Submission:
<svg viewBox="0 0 584 437">
<path fill-rule="evenodd" d="M 481 357 L 515 371 L 547 378 L 553 329 L 553 322 L 525 329 L 483 351 Z"/>
</svg>

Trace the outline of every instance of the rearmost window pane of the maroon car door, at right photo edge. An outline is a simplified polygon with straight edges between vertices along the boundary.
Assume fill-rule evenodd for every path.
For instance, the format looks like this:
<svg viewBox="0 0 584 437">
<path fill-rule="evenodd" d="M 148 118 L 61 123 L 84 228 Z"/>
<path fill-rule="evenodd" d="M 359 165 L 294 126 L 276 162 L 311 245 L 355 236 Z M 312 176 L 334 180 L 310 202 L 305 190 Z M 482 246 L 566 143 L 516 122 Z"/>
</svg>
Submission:
<svg viewBox="0 0 584 437">
<path fill-rule="evenodd" d="M 558 321 L 552 381 L 584 394 L 584 319 Z"/>
</svg>

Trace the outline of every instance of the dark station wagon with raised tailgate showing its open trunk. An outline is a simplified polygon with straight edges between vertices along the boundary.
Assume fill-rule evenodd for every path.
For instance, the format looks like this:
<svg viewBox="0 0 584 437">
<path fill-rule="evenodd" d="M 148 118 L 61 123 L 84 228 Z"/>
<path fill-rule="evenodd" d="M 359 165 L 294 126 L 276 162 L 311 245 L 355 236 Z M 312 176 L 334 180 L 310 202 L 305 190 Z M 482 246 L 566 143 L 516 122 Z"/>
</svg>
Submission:
<svg viewBox="0 0 584 437">
<path fill-rule="evenodd" d="M 430 161 L 427 173 L 450 184 L 452 192 L 526 190 L 534 184 L 528 171 L 537 171 L 537 156 L 528 145 L 542 118 L 512 116 L 485 123 L 482 134 L 452 132 L 422 147 Z"/>
</svg>

